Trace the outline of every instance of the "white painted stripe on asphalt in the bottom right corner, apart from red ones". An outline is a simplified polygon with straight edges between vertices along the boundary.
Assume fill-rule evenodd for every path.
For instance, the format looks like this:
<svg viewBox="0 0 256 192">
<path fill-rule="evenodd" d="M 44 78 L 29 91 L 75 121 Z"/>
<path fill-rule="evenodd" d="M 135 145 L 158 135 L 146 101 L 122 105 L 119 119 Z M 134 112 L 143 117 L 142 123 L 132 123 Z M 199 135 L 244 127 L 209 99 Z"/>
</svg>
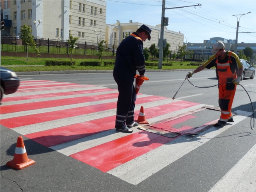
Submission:
<svg viewBox="0 0 256 192">
<path fill-rule="evenodd" d="M 256 145 L 254 145 L 209 192 L 256 191 Z"/>
</svg>

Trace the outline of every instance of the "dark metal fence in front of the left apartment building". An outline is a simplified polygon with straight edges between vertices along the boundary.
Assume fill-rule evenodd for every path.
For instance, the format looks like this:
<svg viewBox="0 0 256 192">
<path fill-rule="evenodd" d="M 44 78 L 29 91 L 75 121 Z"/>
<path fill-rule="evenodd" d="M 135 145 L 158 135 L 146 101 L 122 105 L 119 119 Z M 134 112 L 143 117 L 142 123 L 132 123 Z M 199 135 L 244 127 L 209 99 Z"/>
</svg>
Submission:
<svg viewBox="0 0 256 192">
<path fill-rule="evenodd" d="M 35 44 L 40 53 L 59 53 L 59 54 L 70 54 L 70 45 L 65 40 L 55 39 L 34 39 Z M 115 56 L 117 45 L 104 45 L 104 51 L 102 55 Z M 2 51 L 13 51 L 13 52 L 26 52 L 25 45 L 22 40 L 17 37 L 2 36 L 1 37 L 1 50 Z M 35 52 L 32 46 L 28 46 L 28 52 Z M 91 42 L 77 42 L 73 54 L 77 55 L 98 55 L 98 44 Z"/>
</svg>

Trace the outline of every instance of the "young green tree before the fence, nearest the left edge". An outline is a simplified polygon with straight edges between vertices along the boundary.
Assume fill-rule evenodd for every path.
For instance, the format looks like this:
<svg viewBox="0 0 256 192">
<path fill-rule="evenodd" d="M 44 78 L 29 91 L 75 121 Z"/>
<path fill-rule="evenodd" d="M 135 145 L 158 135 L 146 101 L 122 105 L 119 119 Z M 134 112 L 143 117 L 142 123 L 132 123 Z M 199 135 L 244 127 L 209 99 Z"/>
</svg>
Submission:
<svg viewBox="0 0 256 192">
<path fill-rule="evenodd" d="M 27 24 L 24 24 L 23 26 L 20 27 L 20 38 L 25 45 L 25 50 L 26 50 L 26 58 L 28 61 L 28 46 L 31 45 L 34 49 L 37 55 L 39 56 L 39 50 L 35 45 L 34 41 L 34 36 L 32 35 L 32 29 L 30 26 L 27 26 Z"/>
</svg>

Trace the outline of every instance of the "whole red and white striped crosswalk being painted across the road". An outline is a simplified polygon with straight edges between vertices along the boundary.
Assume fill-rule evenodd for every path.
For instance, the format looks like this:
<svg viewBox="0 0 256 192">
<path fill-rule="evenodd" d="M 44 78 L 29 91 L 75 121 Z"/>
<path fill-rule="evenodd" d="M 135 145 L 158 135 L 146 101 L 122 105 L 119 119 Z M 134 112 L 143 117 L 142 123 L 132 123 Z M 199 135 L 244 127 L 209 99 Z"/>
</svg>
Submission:
<svg viewBox="0 0 256 192">
<path fill-rule="evenodd" d="M 114 128 L 117 96 L 117 90 L 102 86 L 24 80 L 16 93 L 3 98 L 1 125 L 137 185 L 250 115 L 236 111 L 235 122 L 204 131 L 197 139 L 184 134 L 163 137 L 137 127 L 132 128 L 132 134 L 125 134 Z M 141 106 L 150 124 L 164 123 L 165 128 L 183 133 L 195 128 L 182 125 L 175 129 L 175 125 L 197 118 L 193 111 L 204 104 L 138 93 L 135 119 Z M 204 139 L 200 140 L 202 135 Z"/>
</svg>

